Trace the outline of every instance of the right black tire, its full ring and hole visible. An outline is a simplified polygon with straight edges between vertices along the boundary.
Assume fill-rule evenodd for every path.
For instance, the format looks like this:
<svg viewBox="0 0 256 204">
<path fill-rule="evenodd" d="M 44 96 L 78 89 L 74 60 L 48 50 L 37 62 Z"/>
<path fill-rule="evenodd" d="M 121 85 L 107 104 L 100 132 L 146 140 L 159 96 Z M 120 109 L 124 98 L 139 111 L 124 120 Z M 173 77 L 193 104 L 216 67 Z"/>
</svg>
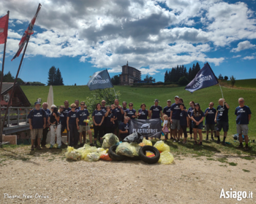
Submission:
<svg viewBox="0 0 256 204">
<path fill-rule="evenodd" d="M 153 152 L 155 156 L 147 157 L 146 151 Z M 139 157 L 140 157 L 140 160 L 142 160 L 143 162 L 146 162 L 148 164 L 154 164 L 154 163 L 158 162 L 158 160 L 160 158 L 160 152 L 158 151 L 158 149 L 156 147 L 146 145 L 146 146 L 142 146 L 140 148 Z"/>
</svg>

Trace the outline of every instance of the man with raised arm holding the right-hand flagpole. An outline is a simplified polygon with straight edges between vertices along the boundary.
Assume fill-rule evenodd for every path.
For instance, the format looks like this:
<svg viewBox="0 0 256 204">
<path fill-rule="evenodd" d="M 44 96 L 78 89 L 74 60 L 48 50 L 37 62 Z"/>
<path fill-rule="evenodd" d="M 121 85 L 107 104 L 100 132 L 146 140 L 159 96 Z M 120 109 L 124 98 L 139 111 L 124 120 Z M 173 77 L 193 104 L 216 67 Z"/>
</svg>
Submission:
<svg viewBox="0 0 256 204">
<path fill-rule="evenodd" d="M 226 145 L 225 139 L 227 137 L 227 131 L 228 131 L 228 109 L 230 109 L 230 106 L 227 104 L 225 99 L 220 98 L 219 106 L 217 107 L 217 112 L 216 112 L 215 119 L 214 119 L 214 122 L 217 122 L 217 130 L 216 130 L 216 134 L 217 134 L 217 138 L 218 138 L 217 144 L 220 143 L 219 131 L 221 131 L 223 128 L 224 137 L 223 137 L 222 144 Z"/>
</svg>

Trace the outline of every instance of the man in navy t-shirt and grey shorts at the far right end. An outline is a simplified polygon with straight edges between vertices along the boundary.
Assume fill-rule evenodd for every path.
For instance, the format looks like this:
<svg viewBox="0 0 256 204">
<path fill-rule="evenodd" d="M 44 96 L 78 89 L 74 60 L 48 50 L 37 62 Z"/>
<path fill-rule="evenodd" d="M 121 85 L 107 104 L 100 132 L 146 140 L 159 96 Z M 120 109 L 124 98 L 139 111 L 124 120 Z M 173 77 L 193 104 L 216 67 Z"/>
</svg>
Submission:
<svg viewBox="0 0 256 204">
<path fill-rule="evenodd" d="M 239 135 L 239 141 L 240 144 L 238 148 L 243 148 L 243 136 L 244 134 L 244 140 L 246 146 L 244 147 L 244 150 L 248 151 L 249 146 L 248 146 L 248 125 L 249 121 L 252 117 L 252 112 L 249 109 L 248 106 L 244 106 L 244 98 L 239 98 L 238 99 L 239 106 L 236 108 L 235 114 L 236 114 L 236 131 Z"/>
</svg>

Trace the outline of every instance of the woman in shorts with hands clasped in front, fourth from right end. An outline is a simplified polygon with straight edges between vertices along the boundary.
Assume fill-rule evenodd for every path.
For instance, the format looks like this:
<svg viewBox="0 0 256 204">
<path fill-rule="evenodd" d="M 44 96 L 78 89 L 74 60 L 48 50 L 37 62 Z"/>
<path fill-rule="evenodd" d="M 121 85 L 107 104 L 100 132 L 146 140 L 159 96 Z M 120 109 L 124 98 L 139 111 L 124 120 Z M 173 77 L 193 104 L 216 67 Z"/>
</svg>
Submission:
<svg viewBox="0 0 256 204">
<path fill-rule="evenodd" d="M 203 144 L 203 136 L 202 136 L 202 129 L 203 129 L 203 119 L 205 117 L 205 114 L 200 108 L 199 103 L 195 103 L 195 109 L 194 112 L 192 113 L 191 119 L 192 119 L 192 127 L 194 131 L 194 139 L 195 139 L 195 144 L 197 144 L 197 131 L 198 135 L 200 138 L 199 144 Z"/>
</svg>

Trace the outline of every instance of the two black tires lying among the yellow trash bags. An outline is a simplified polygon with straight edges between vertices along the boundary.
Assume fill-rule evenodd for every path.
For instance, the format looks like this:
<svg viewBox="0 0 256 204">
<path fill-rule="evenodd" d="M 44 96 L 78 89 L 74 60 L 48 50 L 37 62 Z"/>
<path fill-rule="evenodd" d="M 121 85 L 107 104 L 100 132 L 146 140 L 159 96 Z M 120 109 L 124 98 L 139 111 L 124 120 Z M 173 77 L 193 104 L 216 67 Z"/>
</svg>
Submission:
<svg viewBox="0 0 256 204">
<path fill-rule="evenodd" d="M 118 155 L 116 154 L 116 147 L 117 145 L 110 146 L 110 149 L 108 150 L 109 157 L 114 161 L 123 161 L 123 160 L 142 160 L 143 162 L 146 162 L 148 164 L 154 164 L 157 163 L 160 158 L 160 152 L 157 148 L 154 146 L 142 146 L 140 148 L 139 156 L 137 157 L 127 157 L 124 155 Z M 146 151 L 154 153 L 154 157 L 147 157 Z"/>
</svg>

